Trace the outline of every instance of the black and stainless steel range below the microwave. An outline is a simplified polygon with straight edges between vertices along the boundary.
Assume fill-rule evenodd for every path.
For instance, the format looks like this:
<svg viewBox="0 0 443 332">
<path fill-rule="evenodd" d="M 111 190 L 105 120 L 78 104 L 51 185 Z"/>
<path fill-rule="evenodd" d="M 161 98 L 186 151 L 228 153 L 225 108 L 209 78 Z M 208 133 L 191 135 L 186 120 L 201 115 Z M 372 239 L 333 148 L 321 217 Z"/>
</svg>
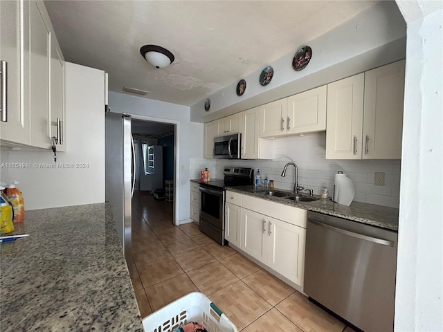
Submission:
<svg viewBox="0 0 443 332">
<path fill-rule="evenodd" d="M 200 183 L 200 230 L 221 246 L 224 239 L 224 195 L 226 187 L 252 185 L 254 170 L 249 167 L 225 167 L 224 179 Z"/>
</svg>

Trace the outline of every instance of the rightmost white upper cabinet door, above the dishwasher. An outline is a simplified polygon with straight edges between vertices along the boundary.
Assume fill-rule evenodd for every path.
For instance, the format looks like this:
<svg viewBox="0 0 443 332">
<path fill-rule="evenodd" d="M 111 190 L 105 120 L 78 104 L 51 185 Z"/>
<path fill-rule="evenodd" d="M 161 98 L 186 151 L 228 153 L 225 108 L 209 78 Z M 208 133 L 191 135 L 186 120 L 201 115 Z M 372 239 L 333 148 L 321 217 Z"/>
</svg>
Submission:
<svg viewBox="0 0 443 332">
<path fill-rule="evenodd" d="M 400 159 L 405 61 L 365 73 L 363 159 Z"/>
</svg>

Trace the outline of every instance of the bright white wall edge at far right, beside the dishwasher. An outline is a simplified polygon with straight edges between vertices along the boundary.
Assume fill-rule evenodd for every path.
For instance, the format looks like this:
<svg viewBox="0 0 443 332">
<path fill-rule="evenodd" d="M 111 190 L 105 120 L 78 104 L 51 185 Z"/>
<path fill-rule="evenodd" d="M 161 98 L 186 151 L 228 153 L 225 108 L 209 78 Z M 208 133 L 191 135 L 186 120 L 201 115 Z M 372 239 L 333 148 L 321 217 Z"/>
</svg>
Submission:
<svg viewBox="0 0 443 332">
<path fill-rule="evenodd" d="M 395 331 L 443 331 L 443 3 L 397 2 L 408 47 Z"/>
</svg>

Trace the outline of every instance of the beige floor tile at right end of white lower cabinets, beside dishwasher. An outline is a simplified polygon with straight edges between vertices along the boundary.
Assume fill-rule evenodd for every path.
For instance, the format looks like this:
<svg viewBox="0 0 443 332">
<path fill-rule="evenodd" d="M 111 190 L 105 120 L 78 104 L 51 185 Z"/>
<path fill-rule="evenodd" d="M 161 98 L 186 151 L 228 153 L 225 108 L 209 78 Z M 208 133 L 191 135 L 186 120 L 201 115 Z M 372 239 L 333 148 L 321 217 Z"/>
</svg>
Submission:
<svg viewBox="0 0 443 332">
<path fill-rule="evenodd" d="M 280 279 L 260 270 L 242 279 L 257 294 L 266 299 L 272 306 L 277 305 L 283 299 L 291 295 L 296 290 Z"/>
</svg>

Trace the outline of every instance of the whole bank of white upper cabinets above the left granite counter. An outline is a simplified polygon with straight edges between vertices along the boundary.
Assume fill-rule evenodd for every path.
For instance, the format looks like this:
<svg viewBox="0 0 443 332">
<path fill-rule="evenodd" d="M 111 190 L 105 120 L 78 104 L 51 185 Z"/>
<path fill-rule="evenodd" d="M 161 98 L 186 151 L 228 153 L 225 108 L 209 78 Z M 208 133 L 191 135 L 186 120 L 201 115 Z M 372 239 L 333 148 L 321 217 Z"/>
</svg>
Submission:
<svg viewBox="0 0 443 332">
<path fill-rule="evenodd" d="M 64 59 L 51 21 L 42 1 L 0 1 L 0 15 L 0 59 L 8 62 L 1 142 L 50 149 L 51 136 L 64 132 Z"/>
</svg>

